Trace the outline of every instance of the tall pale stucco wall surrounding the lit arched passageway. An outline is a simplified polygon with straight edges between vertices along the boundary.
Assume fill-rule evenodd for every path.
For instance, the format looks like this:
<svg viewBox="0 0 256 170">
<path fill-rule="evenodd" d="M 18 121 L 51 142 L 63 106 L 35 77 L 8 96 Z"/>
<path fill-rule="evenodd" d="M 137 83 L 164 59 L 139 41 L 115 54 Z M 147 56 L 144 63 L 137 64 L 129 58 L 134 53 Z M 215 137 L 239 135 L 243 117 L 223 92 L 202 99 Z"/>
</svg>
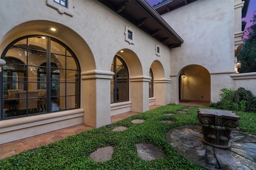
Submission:
<svg viewBox="0 0 256 170">
<path fill-rule="evenodd" d="M 220 89 L 234 88 L 229 76 L 235 72 L 233 0 L 198 0 L 162 18 L 184 39 L 181 48 L 170 50 L 170 76 L 176 83 L 171 86 L 172 103 L 178 102 L 178 76 L 191 64 L 203 66 L 210 73 L 212 102 L 218 101 Z"/>
</svg>

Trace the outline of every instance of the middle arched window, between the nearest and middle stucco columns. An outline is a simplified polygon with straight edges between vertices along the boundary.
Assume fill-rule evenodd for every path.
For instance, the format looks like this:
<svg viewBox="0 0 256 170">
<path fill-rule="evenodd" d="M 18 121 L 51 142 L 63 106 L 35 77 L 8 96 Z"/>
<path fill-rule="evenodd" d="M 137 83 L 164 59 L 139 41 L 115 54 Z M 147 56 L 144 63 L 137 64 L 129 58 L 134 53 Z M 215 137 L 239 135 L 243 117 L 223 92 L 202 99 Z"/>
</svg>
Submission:
<svg viewBox="0 0 256 170">
<path fill-rule="evenodd" d="M 129 100 L 129 73 L 126 64 L 117 55 L 112 61 L 111 71 L 115 73 L 110 81 L 111 103 Z"/>
</svg>

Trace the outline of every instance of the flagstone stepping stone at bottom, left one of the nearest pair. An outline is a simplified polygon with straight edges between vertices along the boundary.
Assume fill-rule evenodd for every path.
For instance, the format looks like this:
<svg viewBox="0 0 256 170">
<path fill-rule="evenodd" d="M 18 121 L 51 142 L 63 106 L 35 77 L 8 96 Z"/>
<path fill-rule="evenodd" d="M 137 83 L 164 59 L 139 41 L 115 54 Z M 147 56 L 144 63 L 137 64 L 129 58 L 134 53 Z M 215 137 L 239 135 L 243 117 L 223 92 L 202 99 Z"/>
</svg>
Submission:
<svg viewBox="0 0 256 170">
<path fill-rule="evenodd" d="M 110 160 L 112 158 L 114 152 L 114 147 L 103 147 L 97 149 L 95 152 L 92 152 L 89 157 L 94 162 L 104 162 L 106 160 Z"/>
</svg>

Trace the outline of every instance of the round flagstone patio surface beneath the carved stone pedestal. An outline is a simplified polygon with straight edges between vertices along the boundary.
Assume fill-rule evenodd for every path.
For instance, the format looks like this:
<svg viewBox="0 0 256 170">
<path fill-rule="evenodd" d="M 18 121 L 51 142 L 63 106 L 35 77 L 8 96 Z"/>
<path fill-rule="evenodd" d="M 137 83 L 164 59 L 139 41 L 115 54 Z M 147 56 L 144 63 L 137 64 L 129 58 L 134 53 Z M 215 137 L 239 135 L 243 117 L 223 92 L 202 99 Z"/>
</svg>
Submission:
<svg viewBox="0 0 256 170">
<path fill-rule="evenodd" d="M 185 126 L 167 133 L 169 143 L 189 160 L 208 170 L 256 170 L 256 136 L 231 132 L 230 149 L 218 149 L 202 142 L 201 126 Z"/>
</svg>

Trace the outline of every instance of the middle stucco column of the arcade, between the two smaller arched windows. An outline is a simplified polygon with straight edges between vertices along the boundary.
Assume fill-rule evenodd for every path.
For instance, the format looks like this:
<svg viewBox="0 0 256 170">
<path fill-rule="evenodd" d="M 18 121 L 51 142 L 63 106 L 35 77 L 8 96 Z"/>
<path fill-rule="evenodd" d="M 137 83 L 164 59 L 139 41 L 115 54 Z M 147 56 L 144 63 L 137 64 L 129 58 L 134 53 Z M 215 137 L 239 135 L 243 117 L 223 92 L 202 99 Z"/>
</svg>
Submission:
<svg viewBox="0 0 256 170">
<path fill-rule="evenodd" d="M 144 112 L 149 109 L 149 76 L 130 77 L 131 111 Z"/>
</svg>

